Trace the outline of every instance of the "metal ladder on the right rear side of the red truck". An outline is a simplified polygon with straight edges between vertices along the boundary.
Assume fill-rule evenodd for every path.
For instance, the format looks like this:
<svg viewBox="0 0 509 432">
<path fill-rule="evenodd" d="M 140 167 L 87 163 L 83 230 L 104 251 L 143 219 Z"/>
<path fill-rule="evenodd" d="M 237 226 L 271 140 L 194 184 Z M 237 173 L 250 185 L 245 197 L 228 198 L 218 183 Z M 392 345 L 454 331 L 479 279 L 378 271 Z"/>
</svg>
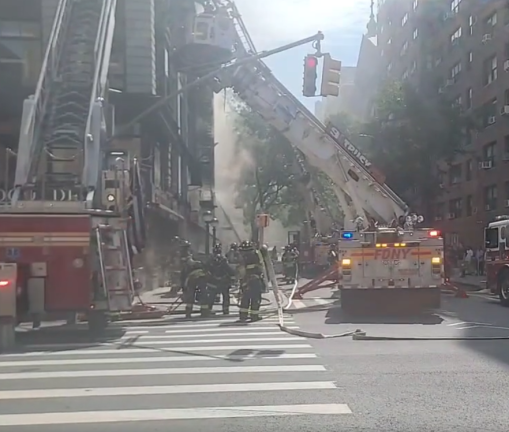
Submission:
<svg viewBox="0 0 509 432">
<path fill-rule="evenodd" d="M 108 310 L 130 310 L 135 291 L 126 231 L 104 224 L 98 225 L 95 231 L 101 283 L 108 301 Z"/>
</svg>

